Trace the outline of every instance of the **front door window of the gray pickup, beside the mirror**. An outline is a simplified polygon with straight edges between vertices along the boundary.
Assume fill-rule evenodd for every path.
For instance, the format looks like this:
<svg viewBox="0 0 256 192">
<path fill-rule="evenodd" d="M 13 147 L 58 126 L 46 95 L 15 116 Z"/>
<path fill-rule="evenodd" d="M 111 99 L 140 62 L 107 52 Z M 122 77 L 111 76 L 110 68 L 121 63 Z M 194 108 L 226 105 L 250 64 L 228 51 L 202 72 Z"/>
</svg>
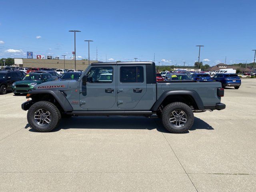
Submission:
<svg viewBox="0 0 256 192">
<path fill-rule="evenodd" d="M 112 81 L 112 67 L 93 67 L 87 74 L 87 82 L 90 83 L 111 83 Z"/>
</svg>

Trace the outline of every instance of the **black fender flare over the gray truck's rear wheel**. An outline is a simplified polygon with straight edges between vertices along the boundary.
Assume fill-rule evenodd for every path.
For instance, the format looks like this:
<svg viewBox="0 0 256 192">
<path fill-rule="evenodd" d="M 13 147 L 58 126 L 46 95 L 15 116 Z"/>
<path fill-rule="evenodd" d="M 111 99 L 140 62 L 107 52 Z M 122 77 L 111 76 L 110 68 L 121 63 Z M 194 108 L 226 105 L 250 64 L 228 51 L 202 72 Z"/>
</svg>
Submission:
<svg viewBox="0 0 256 192">
<path fill-rule="evenodd" d="M 191 96 L 194 101 L 196 102 L 196 105 L 199 110 L 204 110 L 204 104 L 202 102 L 202 99 L 200 98 L 199 94 L 194 90 L 173 90 L 173 91 L 166 91 L 163 92 L 162 95 L 158 98 L 158 100 L 154 103 L 151 110 L 157 111 L 164 99 L 169 95 L 189 95 Z"/>
</svg>

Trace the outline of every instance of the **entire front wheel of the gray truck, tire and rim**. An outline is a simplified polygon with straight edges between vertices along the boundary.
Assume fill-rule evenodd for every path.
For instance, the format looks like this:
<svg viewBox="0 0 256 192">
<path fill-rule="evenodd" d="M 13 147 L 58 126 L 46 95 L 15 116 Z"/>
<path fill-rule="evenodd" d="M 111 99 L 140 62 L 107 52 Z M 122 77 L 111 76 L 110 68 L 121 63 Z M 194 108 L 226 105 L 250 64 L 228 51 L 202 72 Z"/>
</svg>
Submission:
<svg viewBox="0 0 256 192">
<path fill-rule="evenodd" d="M 60 122 L 61 114 L 58 108 L 48 101 L 34 103 L 28 110 L 27 119 L 32 128 L 38 132 L 50 132 Z"/>
</svg>

